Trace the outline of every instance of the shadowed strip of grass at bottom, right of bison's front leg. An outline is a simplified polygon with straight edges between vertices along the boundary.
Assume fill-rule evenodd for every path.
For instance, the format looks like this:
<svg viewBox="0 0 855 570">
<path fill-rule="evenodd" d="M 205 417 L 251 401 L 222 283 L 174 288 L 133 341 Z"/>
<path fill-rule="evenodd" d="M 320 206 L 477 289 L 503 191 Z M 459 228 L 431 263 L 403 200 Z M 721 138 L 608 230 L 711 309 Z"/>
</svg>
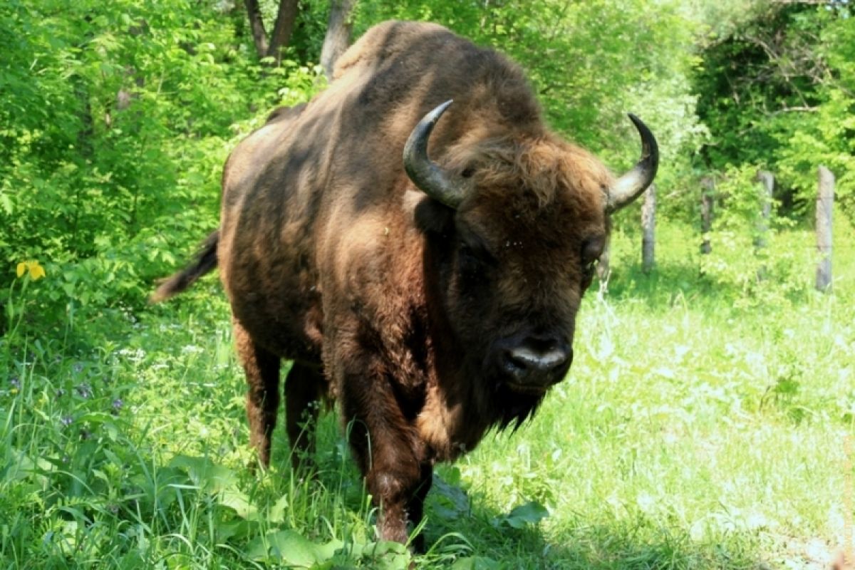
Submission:
<svg viewBox="0 0 855 570">
<path fill-rule="evenodd" d="M 437 514 L 438 497 L 431 492 L 425 530 L 429 553 L 457 549 L 461 557 L 480 559 L 473 568 L 764 567 L 758 541 L 750 536 L 696 543 L 686 529 L 643 516 L 604 522 L 575 515 L 512 528 L 504 523 L 508 514 L 487 506 L 485 497 L 471 498 L 471 512 L 448 518 Z"/>
</svg>

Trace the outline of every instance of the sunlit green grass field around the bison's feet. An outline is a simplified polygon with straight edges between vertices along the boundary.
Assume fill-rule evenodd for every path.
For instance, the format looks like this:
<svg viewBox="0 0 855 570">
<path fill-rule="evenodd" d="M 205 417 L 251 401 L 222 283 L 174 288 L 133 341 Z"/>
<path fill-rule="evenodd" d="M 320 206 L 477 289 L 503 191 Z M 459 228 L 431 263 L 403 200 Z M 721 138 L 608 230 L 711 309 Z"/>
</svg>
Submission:
<svg viewBox="0 0 855 570">
<path fill-rule="evenodd" d="M 811 289 L 805 231 L 764 257 L 722 238 L 702 261 L 664 226 L 649 276 L 618 233 L 569 378 L 516 433 L 437 469 L 417 567 L 828 567 L 855 447 L 855 232 L 835 223 L 833 295 Z M 50 274 L 11 304 L 37 287 Z M 70 311 L 56 338 L 31 332 L 40 318 L 0 338 L 0 565 L 407 567 L 374 542 L 332 412 L 317 479 L 288 467 L 284 429 L 274 467 L 247 468 L 215 279 L 150 309 Z"/>
</svg>

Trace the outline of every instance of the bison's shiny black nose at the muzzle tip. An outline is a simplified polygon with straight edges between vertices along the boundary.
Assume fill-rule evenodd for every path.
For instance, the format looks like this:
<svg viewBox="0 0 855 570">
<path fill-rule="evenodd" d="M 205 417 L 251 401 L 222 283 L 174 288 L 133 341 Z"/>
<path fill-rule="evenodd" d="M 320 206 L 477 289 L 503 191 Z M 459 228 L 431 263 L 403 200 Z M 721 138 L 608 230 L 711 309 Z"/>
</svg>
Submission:
<svg viewBox="0 0 855 570">
<path fill-rule="evenodd" d="M 557 341 L 529 338 L 504 353 L 504 369 L 524 384 L 550 385 L 562 379 L 573 350 Z"/>
</svg>

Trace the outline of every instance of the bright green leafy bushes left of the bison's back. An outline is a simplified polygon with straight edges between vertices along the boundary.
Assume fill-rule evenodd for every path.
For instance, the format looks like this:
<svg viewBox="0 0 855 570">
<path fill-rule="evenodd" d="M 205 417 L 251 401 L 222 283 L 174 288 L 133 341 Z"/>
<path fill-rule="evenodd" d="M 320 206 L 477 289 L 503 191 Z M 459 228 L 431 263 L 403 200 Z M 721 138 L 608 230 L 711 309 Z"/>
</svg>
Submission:
<svg viewBox="0 0 855 570">
<path fill-rule="evenodd" d="M 185 0 L 0 8 L 0 263 L 49 267 L 45 303 L 139 307 L 216 226 L 234 139 L 321 85 L 262 73 L 231 23 Z"/>
</svg>

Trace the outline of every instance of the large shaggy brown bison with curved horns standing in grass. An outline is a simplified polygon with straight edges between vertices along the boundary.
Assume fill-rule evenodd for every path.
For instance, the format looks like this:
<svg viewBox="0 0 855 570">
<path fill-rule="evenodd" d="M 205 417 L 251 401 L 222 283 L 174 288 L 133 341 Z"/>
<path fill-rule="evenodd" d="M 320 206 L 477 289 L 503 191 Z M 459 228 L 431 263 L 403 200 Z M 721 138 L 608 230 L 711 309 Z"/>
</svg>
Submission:
<svg viewBox="0 0 855 570">
<path fill-rule="evenodd" d="M 327 91 L 233 151 L 220 228 L 153 299 L 219 267 L 262 464 L 287 358 L 295 467 L 302 421 L 334 397 L 380 538 L 405 542 L 433 464 L 519 426 L 567 373 L 608 216 L 656 173 L 631 118 L 642 159 L 615 179 L 545 127 L 504 56 L 432 24 L 375 26 Z"/>
</svg>

